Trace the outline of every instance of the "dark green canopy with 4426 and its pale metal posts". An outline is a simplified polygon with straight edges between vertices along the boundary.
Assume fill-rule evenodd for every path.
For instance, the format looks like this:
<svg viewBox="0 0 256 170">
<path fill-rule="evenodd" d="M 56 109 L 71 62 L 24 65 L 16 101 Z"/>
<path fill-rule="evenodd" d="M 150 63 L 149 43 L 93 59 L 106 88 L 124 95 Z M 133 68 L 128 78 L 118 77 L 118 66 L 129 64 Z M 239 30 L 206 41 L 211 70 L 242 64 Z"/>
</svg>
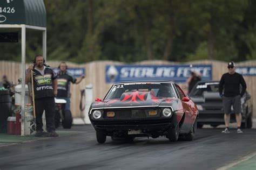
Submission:
<svg viewBox="0 0 256 170">
<path fill-rule="evenodd" d="M 43 0 L 2 0 L 0 1 L 0 30 L 21 31 L 22 48 L 22 131 L 24 136 L 24 116 L 25 116 L 25 47 L 26 29 L 42 31 L 43 56 L 46 60 L 46 11 Z"/>
</svg>

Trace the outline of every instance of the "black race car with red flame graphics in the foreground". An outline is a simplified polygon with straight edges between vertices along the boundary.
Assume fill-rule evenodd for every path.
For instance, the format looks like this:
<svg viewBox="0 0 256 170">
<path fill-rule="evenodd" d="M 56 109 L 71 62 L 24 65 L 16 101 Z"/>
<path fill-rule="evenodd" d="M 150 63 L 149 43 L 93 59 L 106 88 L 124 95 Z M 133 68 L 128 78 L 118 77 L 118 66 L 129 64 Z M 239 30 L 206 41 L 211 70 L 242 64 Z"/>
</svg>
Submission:
<svg viewBox="0 0 256 170">
<path fill-rule="evenodd" d="M 197 117 L 196 104 L 171 81 L 113 84 L 103 101 L 96 98 L 89 110 L 98 143 L 105 143 L 106 136 L 127 141 L 159 136 L 193 140 Z"/>
</svg>

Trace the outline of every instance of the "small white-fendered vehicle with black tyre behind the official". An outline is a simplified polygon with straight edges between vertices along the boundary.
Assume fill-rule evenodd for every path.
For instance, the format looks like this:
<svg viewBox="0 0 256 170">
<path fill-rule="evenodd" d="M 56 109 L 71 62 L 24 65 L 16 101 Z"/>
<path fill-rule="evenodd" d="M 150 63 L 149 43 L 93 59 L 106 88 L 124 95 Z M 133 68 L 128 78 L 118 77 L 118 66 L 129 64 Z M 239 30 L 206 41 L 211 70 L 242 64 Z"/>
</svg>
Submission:
<svg viewBox="0 0 256 170">
<path fill-rule="evenodd" d="M 66 100 L 55 98 L 55 128 L 57 129 L 62 124 L 64 129 L 70 129 L 73 122 L 73 117 L 70 110 L 65 110 Z"/>
</svg>

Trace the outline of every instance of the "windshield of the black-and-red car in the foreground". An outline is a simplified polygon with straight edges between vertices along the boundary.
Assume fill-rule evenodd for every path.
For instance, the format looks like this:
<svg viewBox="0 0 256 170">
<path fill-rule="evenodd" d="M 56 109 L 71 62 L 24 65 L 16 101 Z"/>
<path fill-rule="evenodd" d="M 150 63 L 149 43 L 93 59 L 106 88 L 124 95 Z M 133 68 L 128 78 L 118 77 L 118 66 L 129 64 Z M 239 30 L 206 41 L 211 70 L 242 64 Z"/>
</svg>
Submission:
<svg viewBox="0 0 256 170">
<path fill-rule="evenodd" d="M 105 100 L 119 99 L 123 93 L 133 91 L 147 91 L 155 97 L 176 97 L 171 83 L 154 83 L 154 82 L 139 82 L 139 83 L 122 83 L 114 84 L 106 96 Z"/>
</svg>

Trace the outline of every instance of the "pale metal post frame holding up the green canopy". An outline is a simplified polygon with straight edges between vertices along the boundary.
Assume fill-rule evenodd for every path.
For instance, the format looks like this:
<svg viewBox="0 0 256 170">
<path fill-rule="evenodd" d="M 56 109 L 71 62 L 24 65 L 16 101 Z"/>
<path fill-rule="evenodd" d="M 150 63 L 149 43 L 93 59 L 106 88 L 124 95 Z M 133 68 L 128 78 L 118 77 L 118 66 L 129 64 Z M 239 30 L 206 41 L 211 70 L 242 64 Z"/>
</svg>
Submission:
<svg viewBox="0 0 256 170">
<path fill-rule="evenodd" d="M 21 67 L 21 77 L 22 77 L 22 100 L 21 100 L 21 136 L 24 136 L 24 121 L 25 121 L 25 65 L 26 65 L 26 29 L 42 31 L 43 35 L 43 56 L 46 61 L 46 27 L 31 26 L 25 24 L 0 24 L 0 29 L 21 29 L 21 46 L 22 46 L 22 67 Z"/>
</svg>

